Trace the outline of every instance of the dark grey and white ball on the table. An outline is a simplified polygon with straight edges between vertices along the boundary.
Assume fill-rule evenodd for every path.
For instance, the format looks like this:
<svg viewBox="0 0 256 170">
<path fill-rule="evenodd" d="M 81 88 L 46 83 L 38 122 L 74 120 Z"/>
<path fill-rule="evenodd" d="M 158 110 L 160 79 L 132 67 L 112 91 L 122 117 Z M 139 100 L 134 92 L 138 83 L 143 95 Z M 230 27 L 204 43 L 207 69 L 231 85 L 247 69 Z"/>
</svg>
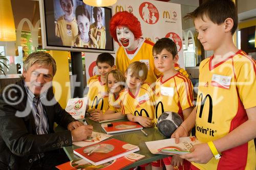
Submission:
<svg viewBox="0 0 256 170">
<path fill-rule="evenodd" d="M 167 111 L 158 117 L 157 128 L 165 137 L 170 138 L 182 122 L 183 120 L 178 113 Z"/>
</svg>

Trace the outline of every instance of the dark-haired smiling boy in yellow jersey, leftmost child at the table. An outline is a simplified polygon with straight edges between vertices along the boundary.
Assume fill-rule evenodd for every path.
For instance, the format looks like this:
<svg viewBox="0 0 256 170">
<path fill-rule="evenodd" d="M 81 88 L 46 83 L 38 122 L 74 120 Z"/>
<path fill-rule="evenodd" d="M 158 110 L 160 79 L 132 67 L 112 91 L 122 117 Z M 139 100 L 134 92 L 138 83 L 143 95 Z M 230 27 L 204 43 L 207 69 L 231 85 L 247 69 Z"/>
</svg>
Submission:
<svg viewBox="0 0 256 170">
<path fill-rule="evenodd" d="M 105 113 L 109 109 L 109 92 L 106 86 L 106 76 L 115 68 L 115 59 L 109 53 L 102 53 L 97 57 L 96 63 L 99 75 L 92 77 L 89 80 L 88 92 L 88 111 L 95 111 Z"/>
</svg>

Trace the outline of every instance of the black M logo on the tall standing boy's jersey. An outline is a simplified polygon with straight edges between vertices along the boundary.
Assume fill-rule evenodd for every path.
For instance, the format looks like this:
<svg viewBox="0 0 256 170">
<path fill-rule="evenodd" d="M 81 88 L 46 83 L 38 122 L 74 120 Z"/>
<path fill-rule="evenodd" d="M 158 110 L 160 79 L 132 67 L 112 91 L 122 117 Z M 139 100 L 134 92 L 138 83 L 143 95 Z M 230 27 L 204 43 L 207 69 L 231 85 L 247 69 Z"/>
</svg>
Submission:
<svg viewBox="0 0 256 170">
<path fill-rule="evenodd" d="M 202 118 L 204 104 L 205 104 L 207 98 L 209 100 L 209 110 L 208 110 L 208 121 L 207 122 L 211 124 L 211 120 L 212 120 L 212 99 L 211 99 L 211 96 L 209 94 L 207 94 L 204 99 L 203 99 L 203 94 L 202 93 L 200 93 L 200 95 L 199 95 L 198 99 L 199 100 L 201 99 L 199 117 Z M 199 107 L 199 105 L 197 106 L 197 109 L 198 109 L 198 107 Z"/>
</svg>

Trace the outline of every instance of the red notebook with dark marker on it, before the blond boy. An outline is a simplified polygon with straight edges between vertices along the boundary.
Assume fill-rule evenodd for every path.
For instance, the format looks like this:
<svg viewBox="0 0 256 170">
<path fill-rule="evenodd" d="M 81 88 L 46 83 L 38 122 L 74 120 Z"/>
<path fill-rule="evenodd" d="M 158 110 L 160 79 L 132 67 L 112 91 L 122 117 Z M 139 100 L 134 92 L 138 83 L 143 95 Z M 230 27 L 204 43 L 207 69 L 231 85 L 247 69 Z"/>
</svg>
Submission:
<svg viewBox="0 0 256 170">
<path fill-rule="evenodd" d="M 113 124 L 113 126 L 108 127 L 108 124 Z M 143 129 L 143 127 L 135 122 L 125 121 L 125 122 L 113 122 L 101 124 L 101 127 L 107 134 L 129 132 Z"/>
</svg>

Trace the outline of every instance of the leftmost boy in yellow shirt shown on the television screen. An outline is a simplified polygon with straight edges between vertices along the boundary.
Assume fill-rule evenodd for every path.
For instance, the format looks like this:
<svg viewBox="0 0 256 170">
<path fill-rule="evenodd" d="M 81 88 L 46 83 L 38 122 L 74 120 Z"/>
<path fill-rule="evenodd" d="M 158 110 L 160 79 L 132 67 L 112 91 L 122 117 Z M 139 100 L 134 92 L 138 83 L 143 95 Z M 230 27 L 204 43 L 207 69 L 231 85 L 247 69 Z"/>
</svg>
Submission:
<svg viewBox="0 0 256 170">
<path fill-rule="evenodd" d="M 73 46 L 72 40 L 78 34 L 76 18 L 73 14 L 73 0 L 59 0 L 59 2 L 64 15 L 57 20 L 55 35 L 61 38 L 63 45 Z"/>
</svg>

